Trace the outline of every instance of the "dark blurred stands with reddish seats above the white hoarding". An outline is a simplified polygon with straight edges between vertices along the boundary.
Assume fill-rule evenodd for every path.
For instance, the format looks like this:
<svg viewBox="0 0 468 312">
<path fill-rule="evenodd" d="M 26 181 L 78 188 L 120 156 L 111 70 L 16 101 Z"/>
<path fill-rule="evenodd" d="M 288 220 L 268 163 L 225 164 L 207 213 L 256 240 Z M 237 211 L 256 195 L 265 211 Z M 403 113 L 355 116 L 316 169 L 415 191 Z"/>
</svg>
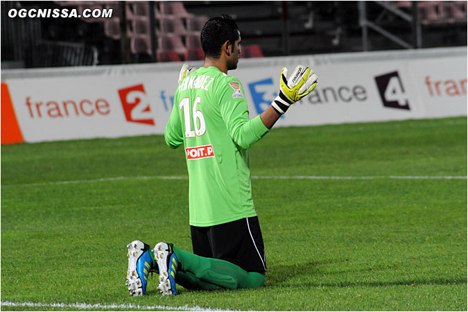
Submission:
<svg viewBox="0 0 468 312">
<path fill-rule="evenodd" d="M 202 60 L 200 30 L 223 13 L 241 29 L 242 58 L 467 45 L 467 1 L 1 1 L 1 69 Z"/>
</svg>

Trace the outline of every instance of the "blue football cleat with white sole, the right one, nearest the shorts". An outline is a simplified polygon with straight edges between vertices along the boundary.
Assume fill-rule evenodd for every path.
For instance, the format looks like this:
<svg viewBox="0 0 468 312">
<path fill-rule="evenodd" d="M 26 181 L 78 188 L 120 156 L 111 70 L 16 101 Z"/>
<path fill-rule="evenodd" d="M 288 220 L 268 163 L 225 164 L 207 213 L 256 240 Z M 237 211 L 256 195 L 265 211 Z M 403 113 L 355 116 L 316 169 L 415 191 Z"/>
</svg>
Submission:
<svg viewBox="0 0 468 312">
<path fill-rule="evenodd" d="M 157 289 L 162 295 L 177 295 L 175 291 L 175 275 L 177 275 L 177 265 L 179 260 L 174 253 L 173 244 L 157 243 L 155 249 L 155 260 L 159 267 L 159 285 Z"/>
</svg>

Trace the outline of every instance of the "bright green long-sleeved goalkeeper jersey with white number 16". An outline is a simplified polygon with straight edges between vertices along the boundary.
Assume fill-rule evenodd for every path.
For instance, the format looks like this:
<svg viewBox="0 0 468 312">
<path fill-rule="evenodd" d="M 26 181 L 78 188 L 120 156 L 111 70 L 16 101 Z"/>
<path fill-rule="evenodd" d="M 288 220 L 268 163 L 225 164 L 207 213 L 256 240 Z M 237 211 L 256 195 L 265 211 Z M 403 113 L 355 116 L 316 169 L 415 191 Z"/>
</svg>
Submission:
<svg viewBox="0 0 468 312">
<path fill-rule="evenodd" d="M 189 171 L 190 225 L 205 227 L 257 216 L 249 151 L 268 132 L 249 119 L 241 82 L 216 67 L 182 80 L 164 131 L 166 144 L 184 144 Z"/>
</svg>

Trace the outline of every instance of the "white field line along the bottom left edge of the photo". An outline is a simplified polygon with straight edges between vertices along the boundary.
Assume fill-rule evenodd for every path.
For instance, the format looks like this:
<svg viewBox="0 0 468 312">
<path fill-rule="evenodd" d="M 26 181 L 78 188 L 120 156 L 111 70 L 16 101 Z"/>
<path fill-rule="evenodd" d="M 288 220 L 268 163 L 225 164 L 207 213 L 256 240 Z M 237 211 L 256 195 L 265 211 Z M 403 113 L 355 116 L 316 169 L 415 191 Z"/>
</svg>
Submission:
<svg viewBox="0 0 468 312">
<path fill-rule="evenodd" d="M 2 301 L 1 306 L 28 306 L 31 308 L 40 308 L 49 306 L 52 308 L 75 308 L 75 309 L 127 309 L 128 311 L 134 309 L 141 310 L 168 310 L 168 311 L 236 311 L 236 310 L 223 310 L 223 309 L 211 309 L 202 308 L 201 306 L 140 306 L 139 304 L 87 304 L 87 303 L 74 303 L 74 304 L 63 304 L 63 303 L 37 303 L 37 302 L 10 302 Z"/>
</svg>

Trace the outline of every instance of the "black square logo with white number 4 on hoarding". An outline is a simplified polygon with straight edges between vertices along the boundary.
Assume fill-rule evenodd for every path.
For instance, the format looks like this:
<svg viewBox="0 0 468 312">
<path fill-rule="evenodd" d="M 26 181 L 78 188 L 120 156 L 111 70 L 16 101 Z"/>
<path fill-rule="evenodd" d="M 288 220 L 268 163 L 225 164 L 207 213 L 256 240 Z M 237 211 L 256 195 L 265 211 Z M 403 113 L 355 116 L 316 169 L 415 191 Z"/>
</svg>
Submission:
<svg viewBox="0 0 468 312">
<path fill-rule="evenodd" d="M 376 76 L 375 82 L 379 88 L 379 94 L 382 99 L 383 106 L 399 108 L 401 110 L 410 110 L 410 101 L 406 95 L 405 88 L 401 82 L 398 71 L 385 73 L 381 76 Z"/>
</svg>

